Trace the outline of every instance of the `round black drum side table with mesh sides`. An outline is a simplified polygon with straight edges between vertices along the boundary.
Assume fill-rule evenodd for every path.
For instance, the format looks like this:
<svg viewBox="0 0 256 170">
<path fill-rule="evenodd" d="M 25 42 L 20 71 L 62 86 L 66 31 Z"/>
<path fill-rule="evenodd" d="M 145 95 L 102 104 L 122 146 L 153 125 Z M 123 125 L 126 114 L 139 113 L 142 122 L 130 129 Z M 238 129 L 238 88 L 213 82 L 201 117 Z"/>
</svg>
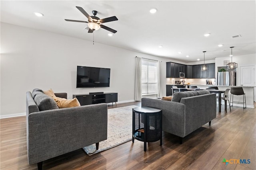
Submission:
<svg viewBox="0 0 256 170">
<path fill-rule="evenodd" d="M 135 107 L 132 109 L 132 142 L 134 139 L 144 142 L 160 140 L 162 145 L 162 110 L 154 107 Z"/>
</svg>

